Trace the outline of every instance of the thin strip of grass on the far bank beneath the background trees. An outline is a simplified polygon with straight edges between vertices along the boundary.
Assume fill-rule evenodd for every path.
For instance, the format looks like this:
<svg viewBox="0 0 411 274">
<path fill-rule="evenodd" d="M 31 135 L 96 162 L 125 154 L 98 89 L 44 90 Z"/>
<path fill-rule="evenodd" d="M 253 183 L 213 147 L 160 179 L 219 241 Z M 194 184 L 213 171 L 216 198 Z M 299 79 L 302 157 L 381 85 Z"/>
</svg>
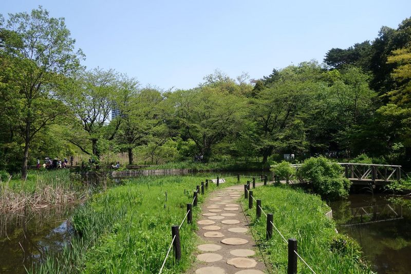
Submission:
<svg viewBox="0 0 411 274">
<path fill-rule="evenodd" d="M 245 170 L 268 170 L 270 165 L 261 162 L 239 162 L 239 161 L 221 161 L 221 162 L 169 162 L 162 165 L 151 166 L 145 169 L 190 169 L 193 171 L 245 171 Z"/>
</svg>

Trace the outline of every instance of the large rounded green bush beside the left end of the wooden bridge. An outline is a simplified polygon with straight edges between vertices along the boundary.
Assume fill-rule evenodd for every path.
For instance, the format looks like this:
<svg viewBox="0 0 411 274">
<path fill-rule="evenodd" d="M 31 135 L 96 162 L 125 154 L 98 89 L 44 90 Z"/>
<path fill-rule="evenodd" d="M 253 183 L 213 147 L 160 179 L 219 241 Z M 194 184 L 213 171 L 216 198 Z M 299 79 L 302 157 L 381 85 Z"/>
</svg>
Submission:
<svg viewBox="0 0 411 274">
<path fill-rule="evenodd" d="M 323 198 L 333 200 L 346 198 L 351 182 L 344 178 L 343 168 L 325 157 L 309 158 L 298 170 L 304 181 L 309 182 L 312 190 Z"/>
</svg>

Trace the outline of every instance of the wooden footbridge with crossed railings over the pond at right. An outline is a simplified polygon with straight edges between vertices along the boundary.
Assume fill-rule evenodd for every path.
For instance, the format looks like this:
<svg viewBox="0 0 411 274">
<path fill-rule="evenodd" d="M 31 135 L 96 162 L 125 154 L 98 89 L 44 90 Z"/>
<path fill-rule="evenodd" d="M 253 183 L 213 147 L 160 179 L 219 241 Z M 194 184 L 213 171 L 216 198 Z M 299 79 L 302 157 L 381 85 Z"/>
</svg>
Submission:
<svg viewBox="0 0 411 274">
<path fill-rule="evenodd" d="M 350 162 L 339 162 L 338 164 L 344 168 L 344 176 L 348 178 L 353 185 L 384 186 L 391 181 L 401 179 L 401 166 Z M 291 166 L 298 169 L 302 164 Z"/>
</svg>

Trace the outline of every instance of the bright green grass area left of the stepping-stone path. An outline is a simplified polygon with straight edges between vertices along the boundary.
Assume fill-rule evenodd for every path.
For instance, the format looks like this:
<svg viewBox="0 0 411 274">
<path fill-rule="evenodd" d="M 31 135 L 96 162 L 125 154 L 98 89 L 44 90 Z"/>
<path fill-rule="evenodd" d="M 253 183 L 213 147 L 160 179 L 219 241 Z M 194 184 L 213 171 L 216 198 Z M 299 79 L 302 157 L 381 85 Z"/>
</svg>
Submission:
<svg viewBox="0 0 411 274">
<path fill-rule="evenodd" d="M 172 241 L 171 226 L 180 225 L 193 191 L 208 174 L 198 176 L 144 176 L 96 194 L 71 218 L 75 235 L 57 257 L 34 267 L 36 273 L 158 273 Z M 228 186 L 234 184 L 231 178 Z M 209 184 L 207 193 L 215 188 Z M 165 201 L 167 192 L 167 202 Z M 199 204 L 203 195 L 198 196 Z M 180 229 L 182 259 L 173 251 L 163 273 L 181 273 L 194 261 L 199 207 L 193 223 Z"/>
</svg>

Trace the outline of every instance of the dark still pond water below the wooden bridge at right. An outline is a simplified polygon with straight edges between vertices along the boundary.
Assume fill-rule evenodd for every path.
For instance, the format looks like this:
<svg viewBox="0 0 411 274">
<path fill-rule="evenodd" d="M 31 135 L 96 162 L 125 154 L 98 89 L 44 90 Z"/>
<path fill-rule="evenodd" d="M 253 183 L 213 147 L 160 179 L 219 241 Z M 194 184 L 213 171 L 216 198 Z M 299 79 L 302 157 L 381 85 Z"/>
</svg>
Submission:
<svg viewBox="0 0 411 274">
<path fill-rule="evenodd" d="M 340 233 L 356 239 L 372 270 L 411 273 L 411 200 L 384 194 L 351 194 L 331 203 Z"/>
</svg>

